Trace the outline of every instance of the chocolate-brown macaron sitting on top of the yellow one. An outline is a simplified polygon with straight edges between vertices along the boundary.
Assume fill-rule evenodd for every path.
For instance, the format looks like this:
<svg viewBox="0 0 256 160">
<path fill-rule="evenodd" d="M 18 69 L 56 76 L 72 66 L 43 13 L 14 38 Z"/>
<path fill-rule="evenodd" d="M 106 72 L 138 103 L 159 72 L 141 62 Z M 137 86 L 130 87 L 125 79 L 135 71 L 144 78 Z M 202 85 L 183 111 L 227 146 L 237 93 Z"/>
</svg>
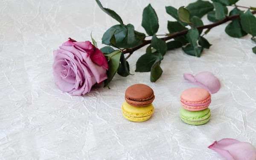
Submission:
<svg viewBox="0 0 256 160">
<path fill-rule="evenodd" d="M 135 107 L 150 105 L 154 98 L 154 91 L 145 84 L 134 84 L 125 91 L 125 101 Z"/>
</svg>

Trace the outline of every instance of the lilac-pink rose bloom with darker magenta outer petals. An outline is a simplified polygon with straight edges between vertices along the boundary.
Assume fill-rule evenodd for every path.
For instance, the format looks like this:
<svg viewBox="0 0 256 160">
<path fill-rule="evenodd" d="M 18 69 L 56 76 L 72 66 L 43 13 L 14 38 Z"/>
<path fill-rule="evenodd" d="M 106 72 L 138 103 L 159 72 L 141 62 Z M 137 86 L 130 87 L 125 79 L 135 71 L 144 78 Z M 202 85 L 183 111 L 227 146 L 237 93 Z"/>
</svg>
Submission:
<svg viewBox="0 0 256 160">
<path fill-rule="evenodd" d="M 55 84 L 72 96 L 90 92 L 95 84 L 107 79 L 108 62 L 103 53 L 90 41 L 76 42 L 69 38 L 53 51 Z"/>
</svg>

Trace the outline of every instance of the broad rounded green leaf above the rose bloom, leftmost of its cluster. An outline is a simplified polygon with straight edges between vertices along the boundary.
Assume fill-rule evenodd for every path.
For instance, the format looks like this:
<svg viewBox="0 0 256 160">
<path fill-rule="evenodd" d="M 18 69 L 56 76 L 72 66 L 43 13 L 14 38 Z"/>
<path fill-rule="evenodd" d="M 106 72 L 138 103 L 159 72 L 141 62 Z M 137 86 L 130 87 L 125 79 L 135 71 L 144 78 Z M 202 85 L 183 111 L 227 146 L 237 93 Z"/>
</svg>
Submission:
<svg viewBox="0 0 256 160">
<path fill-rule="evenodd" d="M 113 32 L 113 30 L 115 29 L 116 29 L 116 32 L 114 32 L 114 35 L 116 39 L 116 44 L 119 44 L 124 40 L 124 38 L 127 35 L 127 29 L 122 25 L 115 25 L 115 26 L 112 26 L 110 29 L 108 29 L 104 33 L 102 37 L 102 44 L 111 45 L 110 39 L 112 37 L 110 35 L 111 35 L 111 31 Z M 117 47 L 119 46 L 117 45 Z"/>
</svg>

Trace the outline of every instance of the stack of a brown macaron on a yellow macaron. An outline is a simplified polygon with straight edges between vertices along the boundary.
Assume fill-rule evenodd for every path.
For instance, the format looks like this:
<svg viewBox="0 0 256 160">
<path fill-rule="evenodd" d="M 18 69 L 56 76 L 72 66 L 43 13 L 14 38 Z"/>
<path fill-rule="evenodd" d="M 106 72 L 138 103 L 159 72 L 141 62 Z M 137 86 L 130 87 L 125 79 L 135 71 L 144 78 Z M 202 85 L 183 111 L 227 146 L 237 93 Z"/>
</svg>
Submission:
<svg viewBox="0 0 256 160">
<path fill-rule="evenodd" d="M 122 104 L 123 116 L 133 122 L 148 120 L 153 112 L 154 91 L 145 84 L 134 84 L 125 91 L 125 102 Z"/>
</svg>

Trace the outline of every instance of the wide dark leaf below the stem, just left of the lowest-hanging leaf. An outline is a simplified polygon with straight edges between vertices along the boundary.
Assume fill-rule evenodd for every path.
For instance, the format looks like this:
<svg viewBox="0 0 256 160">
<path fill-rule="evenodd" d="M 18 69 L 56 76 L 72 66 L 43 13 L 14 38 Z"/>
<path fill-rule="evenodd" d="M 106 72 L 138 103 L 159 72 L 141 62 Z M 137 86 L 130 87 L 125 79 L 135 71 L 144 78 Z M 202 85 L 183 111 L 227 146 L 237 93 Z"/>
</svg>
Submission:
<svg viewBox="0 0 256 160">
<path fill-rule="evenodd" d="M 145 53 L 138 59 L 135 72 L 150 72 L 153 64 L 162 59 L 163 56 L 160 53 Z"/>
</svg>

